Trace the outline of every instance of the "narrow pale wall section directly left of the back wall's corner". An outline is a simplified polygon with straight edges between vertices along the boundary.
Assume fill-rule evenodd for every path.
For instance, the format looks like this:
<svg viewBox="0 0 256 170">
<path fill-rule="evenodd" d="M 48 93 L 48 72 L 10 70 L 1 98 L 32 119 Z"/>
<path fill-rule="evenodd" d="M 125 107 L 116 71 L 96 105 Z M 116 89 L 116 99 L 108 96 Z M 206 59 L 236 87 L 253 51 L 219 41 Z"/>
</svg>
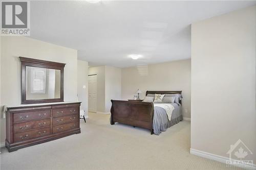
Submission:
<svg viewBox="0 0 256 170">
<path fill-rule="evenodd" d="M 121 100 L 121 68 L 105 66 L 105 112 L 110 112 L 111 100 Z"/>
</svg>

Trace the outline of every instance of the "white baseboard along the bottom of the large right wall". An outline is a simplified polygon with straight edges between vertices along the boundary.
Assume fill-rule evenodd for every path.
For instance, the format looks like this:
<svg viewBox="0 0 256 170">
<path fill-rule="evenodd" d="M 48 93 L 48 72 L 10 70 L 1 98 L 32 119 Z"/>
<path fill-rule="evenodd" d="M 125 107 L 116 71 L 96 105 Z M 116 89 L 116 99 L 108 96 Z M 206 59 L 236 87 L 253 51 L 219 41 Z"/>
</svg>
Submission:
<svg viewBox="0 0 256 170">
<path fill-rule="evenodd" d="M 207 158 L 207 159 L 211 159 L 211 160 L 215 160 L 215 161 L 225 163 L 225 164 L 226 164 L 226 161 L 229 160 L 228 157 L 215 155 L 215 154 L 211 154 L 211 153 L 208 153 L 208 152 L 203 152 L 203 151 L 199 151 L 199 150 L 195 150 L 195 149 L 191 149 L 191 148 L 190 148 L 190 154 L 197 155 L 197 156 Z M 255 164 L 253 164 L 252 166 L 248 166 L 246 164 L 241 164 L 240 167 L 245 168 L 245 169 L 250 169 L 250 170 L 255 170 L 256 169 Z"/>
</svg>

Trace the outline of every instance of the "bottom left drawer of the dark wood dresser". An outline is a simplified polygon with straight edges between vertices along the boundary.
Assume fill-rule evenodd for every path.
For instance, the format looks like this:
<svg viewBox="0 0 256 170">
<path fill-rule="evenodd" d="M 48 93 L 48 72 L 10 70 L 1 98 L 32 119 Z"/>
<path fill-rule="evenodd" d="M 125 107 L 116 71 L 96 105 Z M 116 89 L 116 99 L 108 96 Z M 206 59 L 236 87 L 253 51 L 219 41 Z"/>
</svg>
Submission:
<svg viewBox="0 0 256 170">
<path fill-rule="evenodd" d="M 14 138 L 14 142 L 18 142 L 18 141 L 24 141 L 32 138 L 47 136 L 49 134 L 50 134 L 50 127 L 27 131 L 27 132 L 15 133 L 13 135 L 13 138 Z"/>
</svg>

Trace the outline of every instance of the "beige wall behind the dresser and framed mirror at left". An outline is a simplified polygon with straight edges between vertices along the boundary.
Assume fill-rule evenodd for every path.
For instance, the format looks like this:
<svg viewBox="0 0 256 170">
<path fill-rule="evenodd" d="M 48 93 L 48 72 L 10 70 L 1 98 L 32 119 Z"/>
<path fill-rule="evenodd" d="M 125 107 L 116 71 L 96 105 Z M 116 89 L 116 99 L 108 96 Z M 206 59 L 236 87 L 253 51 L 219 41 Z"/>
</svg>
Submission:
<svg viewBox="0 0 256 170">
<path fill-rule="evenodd" d="M 77 51 L 22 36 L 1 37 L 1 142 L 5 141 L 3 106 L 21 103 L 19 56 L 66 63 L 64 100 L 77 101 Z"/>
</svg>

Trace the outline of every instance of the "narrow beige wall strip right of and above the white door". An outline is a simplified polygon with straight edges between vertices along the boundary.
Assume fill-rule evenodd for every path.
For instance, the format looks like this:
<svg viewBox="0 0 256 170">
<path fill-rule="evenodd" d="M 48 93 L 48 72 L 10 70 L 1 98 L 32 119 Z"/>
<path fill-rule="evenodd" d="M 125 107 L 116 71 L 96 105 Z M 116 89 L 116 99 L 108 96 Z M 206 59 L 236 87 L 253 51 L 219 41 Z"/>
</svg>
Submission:
<svg viewBox="0 0 256 170">
<path fill-rule="evenodd" d="M 89 75 L 97 75 L 97 111 L 105 112 L 105 66 L 89 67 Z"/>
</svg>

